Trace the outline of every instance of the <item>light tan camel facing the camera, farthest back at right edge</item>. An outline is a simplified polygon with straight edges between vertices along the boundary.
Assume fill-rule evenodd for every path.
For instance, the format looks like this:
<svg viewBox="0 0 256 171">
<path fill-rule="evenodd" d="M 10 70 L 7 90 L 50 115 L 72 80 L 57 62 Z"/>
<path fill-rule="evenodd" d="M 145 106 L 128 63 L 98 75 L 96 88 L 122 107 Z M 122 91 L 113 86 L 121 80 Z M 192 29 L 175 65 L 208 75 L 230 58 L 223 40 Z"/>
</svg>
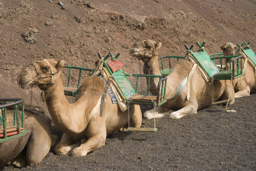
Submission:
<svg viewBox="0 0 256 171">
<path fill-rule="evenodd" d="M 232 56 L 236 54 L 236 45 L 234 45 L 233 43 L 225 43 L 223 46 L 220 45 L 220 49 L 223 51 L 224 56 Z M 231 58 L 231 61 L 233 61 L 233 59 L 234 58 Z M 244 65 L 244 59 L 242 60 Z M 230 70 L 229 58 L 226 58 L 224 61 L 226 64 L 226 69 Z M 256 92 L 255 72 L 249 62 L 247 62 L 246 67 L 243 69 L 243 71 L 245 73 L 243 77 L 232 81 L 234 90 L 236 92 L 235 97 L 249 96 L 250 93 Z M 240 79 L 243 80 L 241 88 L 239 89 Z"/>
</svg>

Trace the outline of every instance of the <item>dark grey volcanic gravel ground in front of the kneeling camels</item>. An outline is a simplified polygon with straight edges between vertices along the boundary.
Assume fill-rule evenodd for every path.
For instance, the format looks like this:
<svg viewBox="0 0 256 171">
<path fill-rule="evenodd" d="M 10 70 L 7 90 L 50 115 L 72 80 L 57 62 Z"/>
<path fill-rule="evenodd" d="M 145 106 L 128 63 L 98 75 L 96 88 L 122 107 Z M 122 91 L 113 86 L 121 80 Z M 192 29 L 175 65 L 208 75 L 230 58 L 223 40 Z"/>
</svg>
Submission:
<svg viewBox="0 0 256 171">
<path fill-rule="evenodd" d="M 256 170 L 256 94 L 234 105 L 209 106 L 181 119 L 156 119 L 156 133 L 126 131 L 83 157 L 57 156 L 53 146 L 40 163 L 21 170 Z M 141 106 L 141 111 L 152 109 Z M 154 120 L 142 120 L 153 127 Z M 52 125 L 52 134 L 62 132 Z M 17 167 L 5 167 L 9 171 Z"/>
</svg>

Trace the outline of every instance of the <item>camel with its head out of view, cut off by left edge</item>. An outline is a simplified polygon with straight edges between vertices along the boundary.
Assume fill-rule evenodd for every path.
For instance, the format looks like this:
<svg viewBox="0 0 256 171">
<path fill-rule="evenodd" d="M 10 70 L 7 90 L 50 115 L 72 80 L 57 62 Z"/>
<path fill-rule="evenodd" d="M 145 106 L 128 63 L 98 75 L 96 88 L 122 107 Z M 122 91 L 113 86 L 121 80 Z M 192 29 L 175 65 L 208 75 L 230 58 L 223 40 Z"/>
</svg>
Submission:
<svg viewBox="0 0 256 171">
<path fill-rule="evenodd" d="M 31 106 L 31 108 L 35 107 L 39 108 Z M 29 105 L 25 105 L 25 108 L 29 108 Z M 13 126 L 13 110 L 6 108 L 9 126 Z M 27 119 L 24 119 L 24 130 L 31 131 L 31 134 L 0 144 L 0 167 L 5 164 L 8 166 L 13 164 L 17 167 L 32 166 L 41 162 L 50 151 L 51 146 L 55 145 L 58 136 L 51 135 L 50 118 L 44 113 L 34 114 L 32 112 L 24 111 L 24 118 L 28 116 Z M 0 114 L 2 114 L 1 110 Z M 19 120 L 21 123 L 21 114 Z"/>
</svg>

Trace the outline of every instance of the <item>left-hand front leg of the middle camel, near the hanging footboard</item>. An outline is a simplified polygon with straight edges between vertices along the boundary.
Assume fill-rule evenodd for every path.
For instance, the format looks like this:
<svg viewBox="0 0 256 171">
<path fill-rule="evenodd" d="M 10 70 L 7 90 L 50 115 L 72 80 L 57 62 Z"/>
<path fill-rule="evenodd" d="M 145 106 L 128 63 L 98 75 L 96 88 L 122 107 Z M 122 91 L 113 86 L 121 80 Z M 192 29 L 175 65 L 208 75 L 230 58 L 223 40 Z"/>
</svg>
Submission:
<svg viewBox="0 0 256 171">
<path fill-rule="evenodd" d="M 169 116 L 170 112 L 173 112 L 173 111 L 165 108 L 162 105 L 158 106 L 155 109 L 155 118 L 161 118 L 161 117 L 164 117 L 164 116 Z M 154 109 L 146 111 L 143 114 L 143 118 L 144 119 L 152 119 L 152 118 L 154 118 Z"/>
</svg>

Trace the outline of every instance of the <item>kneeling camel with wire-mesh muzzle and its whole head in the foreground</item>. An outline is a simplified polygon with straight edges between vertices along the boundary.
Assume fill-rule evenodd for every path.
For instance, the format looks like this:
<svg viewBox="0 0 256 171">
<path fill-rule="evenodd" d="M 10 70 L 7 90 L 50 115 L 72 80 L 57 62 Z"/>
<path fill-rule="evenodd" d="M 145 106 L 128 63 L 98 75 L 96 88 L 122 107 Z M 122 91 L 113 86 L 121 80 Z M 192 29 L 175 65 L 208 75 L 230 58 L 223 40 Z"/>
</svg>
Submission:
<svg viewBox="0 0 256 171">
<path fill-rule="evenodd" d="M 106 83 L 95 75 L 84 81 L 75 103 L 69 104 L 63 90 L 60 70 L 63 66 L 64 60 L 44 59 L 25 68 L 18 82 L 22 88 L 38 84 L 43 90 L 52 121 L 64 133 L 54 149 L 55 153 L 66 155 L 72 148 L 80 145 L 71 151 L 71 156 L 84 156 L 105 145 L 106 136 L 128 123 L 128 110 L 122 112 L 117 104 L 112 104 L 108 95 L 103 115 L 100 116 L 99 104 Z M 36 73 L 40 74 L 40 79 Z M 142 114 L 139 105 L 130 105 L 129 117 L 131 126 L 140 128 Z"/>
</svg>

